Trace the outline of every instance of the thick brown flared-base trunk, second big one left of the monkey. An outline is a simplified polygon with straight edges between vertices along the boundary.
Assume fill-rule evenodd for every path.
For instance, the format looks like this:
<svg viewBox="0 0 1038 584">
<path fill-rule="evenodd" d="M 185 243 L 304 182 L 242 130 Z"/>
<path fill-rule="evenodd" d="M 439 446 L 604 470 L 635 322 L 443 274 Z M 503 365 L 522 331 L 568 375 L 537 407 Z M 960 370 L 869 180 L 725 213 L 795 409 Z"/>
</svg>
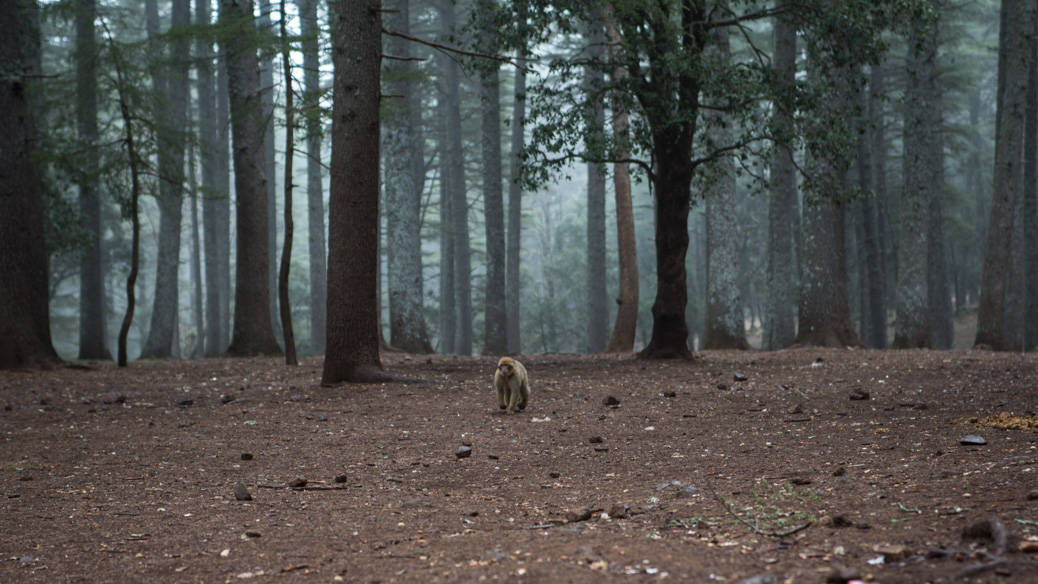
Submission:
<svg viewBox="0 0 1038 584">
<path fill-rule="evenodd" d="M 238 198 L 235 325 L 227 353 L 233 356 L 279 355 L 270 322 L 270 253 L 267 179 L 264 174 L 264 119 L 256 62 L 256 30 L 251 0 L 221 0 L 220 24 L 226 28 L 230 131 Z"/>
</svg>

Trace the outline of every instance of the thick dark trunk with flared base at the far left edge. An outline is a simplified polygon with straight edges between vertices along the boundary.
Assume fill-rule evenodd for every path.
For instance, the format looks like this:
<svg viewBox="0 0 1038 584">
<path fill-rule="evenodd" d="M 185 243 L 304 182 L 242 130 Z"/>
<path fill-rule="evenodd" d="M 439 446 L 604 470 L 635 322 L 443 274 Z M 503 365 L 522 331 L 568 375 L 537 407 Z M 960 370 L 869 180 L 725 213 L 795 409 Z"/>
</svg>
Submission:
<svg viewBox="0 0 1038 584">
<path fill-rule="evenodd" d="M 0 2 L 0 369 L 50 367 L 48 257 L 44 187 L 29 95 L 38 77 L 39 25 L 34 0 Z"/>
</svg>

